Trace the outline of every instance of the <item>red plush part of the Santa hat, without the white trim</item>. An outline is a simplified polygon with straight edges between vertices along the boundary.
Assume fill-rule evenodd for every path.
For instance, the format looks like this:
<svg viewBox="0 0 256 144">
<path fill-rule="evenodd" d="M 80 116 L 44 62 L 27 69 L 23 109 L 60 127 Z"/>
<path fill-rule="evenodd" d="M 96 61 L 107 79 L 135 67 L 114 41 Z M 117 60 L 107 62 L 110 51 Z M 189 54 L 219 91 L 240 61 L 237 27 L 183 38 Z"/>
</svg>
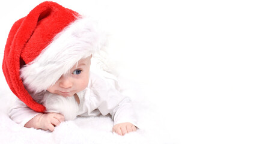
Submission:
<svg viewBox="0 0 256 144">
<path fill-rule="evenodd" d="M 2 70 L 13 93 L 36 112 L 45 107 L 35 102 L 20 78 L 20 68 L 33 61 L 56 34 L 79 16 L 55 2 L 43 2 L 14 23 L 7 38 Z"/>
</svg>

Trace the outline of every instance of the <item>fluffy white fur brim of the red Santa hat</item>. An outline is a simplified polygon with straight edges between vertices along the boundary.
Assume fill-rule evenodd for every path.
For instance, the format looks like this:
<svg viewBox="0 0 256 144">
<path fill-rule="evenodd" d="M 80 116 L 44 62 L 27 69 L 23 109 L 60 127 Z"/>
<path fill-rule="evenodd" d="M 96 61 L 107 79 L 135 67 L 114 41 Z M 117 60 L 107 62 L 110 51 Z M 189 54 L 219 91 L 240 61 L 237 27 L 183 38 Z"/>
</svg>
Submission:
<svg viewBox="0 0 256 144">
<path fill-rule="evenodd" d="M 45 91 L 81 58 L 100 50 L 104 43 L 96 21 L 78 17 L 34 59 L 20 69 L 23 83 L 30 92 Z"/>
</svg>

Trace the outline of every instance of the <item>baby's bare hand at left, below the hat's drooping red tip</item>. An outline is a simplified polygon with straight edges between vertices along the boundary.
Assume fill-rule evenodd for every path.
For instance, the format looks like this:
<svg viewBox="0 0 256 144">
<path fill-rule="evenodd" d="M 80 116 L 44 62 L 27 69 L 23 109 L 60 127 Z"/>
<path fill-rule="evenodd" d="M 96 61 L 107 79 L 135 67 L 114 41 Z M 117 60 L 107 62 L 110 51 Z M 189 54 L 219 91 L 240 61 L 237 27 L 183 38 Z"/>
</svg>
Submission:
<svg viewBox="0 0 256 144">
<path fill-rule="evenodd" d="M 37 129 L 53 131 L 55 126 L 58 126 L 62 121 L 65 121 L 65 119 L 61 114 L 40 113 L 28 121 L 24 127 L 33 127 Z"/>
</svg>

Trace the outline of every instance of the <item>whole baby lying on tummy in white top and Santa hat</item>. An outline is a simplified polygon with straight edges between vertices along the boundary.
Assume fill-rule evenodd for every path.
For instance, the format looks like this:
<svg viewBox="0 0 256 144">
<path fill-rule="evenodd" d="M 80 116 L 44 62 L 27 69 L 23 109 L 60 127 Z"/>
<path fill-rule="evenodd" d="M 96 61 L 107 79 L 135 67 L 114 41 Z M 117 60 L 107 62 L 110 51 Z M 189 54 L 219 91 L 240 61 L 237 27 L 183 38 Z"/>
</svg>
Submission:
<svg viewBox="0 0 256 144">
<path fill-rule="evenodd" d="M 2 69 L 17 99 L 9 115 L 23 127 L 53 131 L 76 116 L 110 114 L 112 130 L 136 131 L 136 115 L 117 78 L 91 70 L 102 38 L 96 23 L 55 2 L 43 2 L 14 23 Z"/>
</svg>

